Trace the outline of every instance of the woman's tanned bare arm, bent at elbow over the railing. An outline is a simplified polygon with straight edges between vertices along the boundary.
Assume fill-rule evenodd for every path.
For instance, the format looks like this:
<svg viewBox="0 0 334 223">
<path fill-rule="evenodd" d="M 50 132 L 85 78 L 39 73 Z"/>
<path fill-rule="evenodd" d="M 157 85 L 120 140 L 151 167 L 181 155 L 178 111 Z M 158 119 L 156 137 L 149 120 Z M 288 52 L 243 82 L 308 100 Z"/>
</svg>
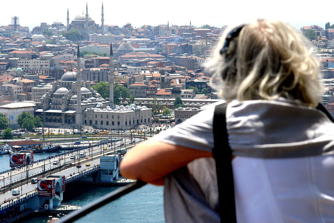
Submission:
<svg viewBox="0 0 334 223">
<path fill-rule="evenodd" d="M 127 153 L 120 169 L 125 177 L 162 185 L 166 175 L 201 157 L 212 157 L 212 153 L 164 142 L 145 141 Z"/>
</svg>

